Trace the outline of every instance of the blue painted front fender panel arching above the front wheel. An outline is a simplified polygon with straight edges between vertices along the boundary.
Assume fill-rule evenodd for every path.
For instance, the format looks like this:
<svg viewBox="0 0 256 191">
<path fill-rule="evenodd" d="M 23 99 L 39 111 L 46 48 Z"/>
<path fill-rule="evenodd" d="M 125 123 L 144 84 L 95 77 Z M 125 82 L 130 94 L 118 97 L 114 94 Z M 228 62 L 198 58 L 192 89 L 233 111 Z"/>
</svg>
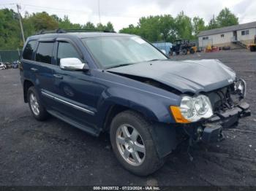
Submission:
<svg viewBox="0 0 256 191">
<path fill-rule="evenodd" d="M 110 106 L 117 104 L 138 111 L 153 122 L 175 122 L 169 106 L 178 106 L 179 95 L 105 71 L 96 71 L 95 76 L 100 87 L 97 90 L 97 115 L 101 121 Z"/>
</svg>

